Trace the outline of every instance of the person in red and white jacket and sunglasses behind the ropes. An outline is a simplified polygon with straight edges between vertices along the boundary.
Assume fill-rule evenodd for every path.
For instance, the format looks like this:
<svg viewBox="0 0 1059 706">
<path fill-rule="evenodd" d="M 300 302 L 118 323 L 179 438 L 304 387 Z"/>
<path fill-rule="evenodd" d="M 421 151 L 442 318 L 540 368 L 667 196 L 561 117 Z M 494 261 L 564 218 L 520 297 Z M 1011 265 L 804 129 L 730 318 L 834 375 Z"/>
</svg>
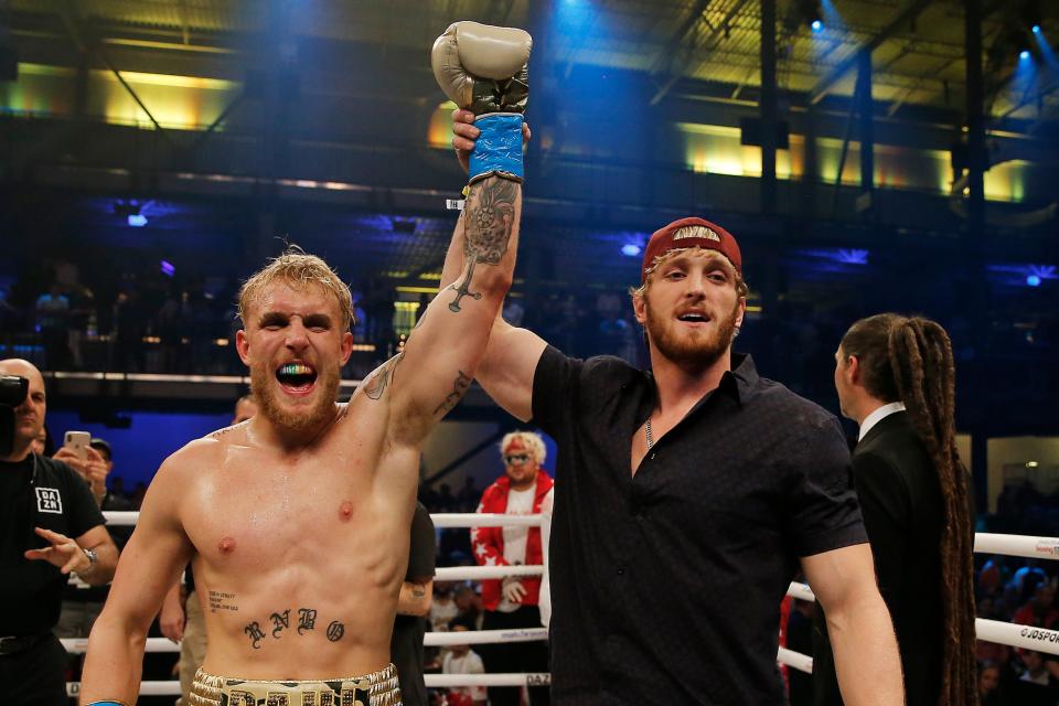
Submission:
<svg viewBox="0 0 1059 706">
<path fill-rule="evenodd" d="M 485 489 L 480 513 L 530 515 L 541 513 L 541 503 L 552 490 L 552 478 L 541 468 L 546 457 L 544 439 L 532 431 L 513 431 L 500 442 L 504 475 Z M 537 527 L 475 527 L 471 548 L 481 566 L 541 565 L 541 530 Z M 538 628 L 541 625 L 539 576 L 513 576 L 482 581 L 483 630 Z M 544 642 L 511 642 L 482 645 L 486 673 L 547 672 L 548 654 Z M 514 687 L 489 689 L 490 706 L 520 704 Z M 547 687 L 530 689 L 533 704 L 547 704 Z"/>
</svg>

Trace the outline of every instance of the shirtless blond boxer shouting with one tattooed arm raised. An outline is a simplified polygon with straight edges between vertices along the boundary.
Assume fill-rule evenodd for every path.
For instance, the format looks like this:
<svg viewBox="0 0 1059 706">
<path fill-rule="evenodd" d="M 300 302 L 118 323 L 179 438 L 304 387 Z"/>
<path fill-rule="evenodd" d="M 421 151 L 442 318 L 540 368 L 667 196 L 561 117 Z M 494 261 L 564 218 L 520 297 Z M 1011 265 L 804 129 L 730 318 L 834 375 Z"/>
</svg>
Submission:
<svg viewBox="0 0 1059 706">
<path fill-rule="evenodd" d="M 524 71 L 528 46 L 512 53 Z M 512 129 L 521 141 L 521 119 Z M 511 285 L 510 157 L 471 174 L 456 228 L 467 268 L 347 404 L 335 403 L 353 346 L 345 285 L 298 253 L 246 282 L 236 345 L 260 411 L 162 464 L 89 640 L 83 704 L 136 700 L 147 629 L 189 560 L 208 635 L 193 706 L 399 703 L 389 642 L 419 451 L 470 385 Z"/>
</svg>

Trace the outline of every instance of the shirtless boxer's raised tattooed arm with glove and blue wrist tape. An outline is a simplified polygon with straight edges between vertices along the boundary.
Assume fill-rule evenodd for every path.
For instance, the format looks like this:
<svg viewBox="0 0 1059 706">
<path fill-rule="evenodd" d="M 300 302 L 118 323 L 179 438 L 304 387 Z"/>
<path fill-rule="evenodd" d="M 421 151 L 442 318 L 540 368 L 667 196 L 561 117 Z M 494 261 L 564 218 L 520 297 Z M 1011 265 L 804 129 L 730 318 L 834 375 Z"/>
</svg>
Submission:
<svg viewBox="0 0 1059 706">
<path fill-rule="evenodd" d="M 511 287 L 522 217 L 522 114 L 532 40 L 522 30 L 457 22 L 438 38 L 431 65 L 439 85 L 472 109 L 488 139 L 471 156 L 467 207 L 456 227 L 462 263 L 434 299 L 400 355 L 365 385 L 392 391 L 398 442 L 416 445 L 459 403 L 485 353 Z"/>
</svg>

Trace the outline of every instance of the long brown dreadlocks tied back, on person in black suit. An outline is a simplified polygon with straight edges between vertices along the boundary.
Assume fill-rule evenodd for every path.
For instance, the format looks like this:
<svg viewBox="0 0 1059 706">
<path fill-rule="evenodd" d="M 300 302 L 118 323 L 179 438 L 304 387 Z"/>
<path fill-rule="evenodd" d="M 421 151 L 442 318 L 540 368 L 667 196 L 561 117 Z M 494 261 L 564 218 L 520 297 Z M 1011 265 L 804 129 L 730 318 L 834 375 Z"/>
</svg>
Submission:
<svg viewBox="0 0 1059 706">
<path fill-rule="evenodd" d="M 842 340 L 856 356 L 865 388 L 905 403 L 941 484 L 941 596 L 944 610 L 940 706 L 977 703 L 970 478 L 955 435 L 955 366 L 945 330 L 921 317 L 882 313 L 854 323 Z"/>
</svg>

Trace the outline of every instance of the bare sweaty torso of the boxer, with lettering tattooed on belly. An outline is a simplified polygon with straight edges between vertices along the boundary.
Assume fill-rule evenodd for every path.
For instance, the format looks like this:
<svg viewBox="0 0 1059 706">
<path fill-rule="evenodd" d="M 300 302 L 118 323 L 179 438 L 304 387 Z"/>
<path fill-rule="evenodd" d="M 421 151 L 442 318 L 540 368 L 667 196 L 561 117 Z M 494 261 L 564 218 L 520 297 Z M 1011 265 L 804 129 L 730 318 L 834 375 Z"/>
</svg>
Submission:
<svg viewBox="0 0 1059 706">
<path fill-rule="evenodd" d="M 246 425 L 189 449 L 179 514 L 197 548 L 206 672 L 327 678 L 388 662 L 418 460 L 381 458 L 366 432 L 381 438 L 385 427 L 359 414 L 371 411 L 365 402 L 354 397 L 332 432 L 296 458 L 258 448 Z M 335 498 L 352 500 L 335 512 Z"/>
</svg>

